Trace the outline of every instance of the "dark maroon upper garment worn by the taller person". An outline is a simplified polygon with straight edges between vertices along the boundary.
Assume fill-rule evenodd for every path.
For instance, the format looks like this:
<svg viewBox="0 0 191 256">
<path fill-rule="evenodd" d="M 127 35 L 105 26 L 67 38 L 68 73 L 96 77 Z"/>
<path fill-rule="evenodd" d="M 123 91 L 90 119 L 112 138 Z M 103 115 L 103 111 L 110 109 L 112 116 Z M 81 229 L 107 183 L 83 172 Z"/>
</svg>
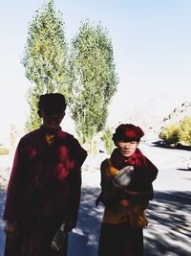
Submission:
<svg viewBox="0 0 191 256">
<path fill-rule="evenodd" d="M 21 224 L 77 220 L 81 172 L 87 152 L 59 129 L 48 145 L 43 127 L 21 138 L 14 156 L 3 219 Z M 69 202 L 70 196 L 70 202 Z"/>
</svg>

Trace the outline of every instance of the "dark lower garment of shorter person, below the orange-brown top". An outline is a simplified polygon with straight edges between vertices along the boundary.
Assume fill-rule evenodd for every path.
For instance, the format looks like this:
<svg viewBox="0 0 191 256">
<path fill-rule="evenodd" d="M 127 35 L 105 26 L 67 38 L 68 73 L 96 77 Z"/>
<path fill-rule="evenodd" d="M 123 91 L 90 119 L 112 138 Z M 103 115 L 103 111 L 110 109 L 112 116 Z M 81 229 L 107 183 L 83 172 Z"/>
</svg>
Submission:
<svg viewBox="0 0 191 256">
<path fill-rule="evenodd" d="M 102 223 L 98 256 L 143 256 L 142 227 Z"/>
</svg>

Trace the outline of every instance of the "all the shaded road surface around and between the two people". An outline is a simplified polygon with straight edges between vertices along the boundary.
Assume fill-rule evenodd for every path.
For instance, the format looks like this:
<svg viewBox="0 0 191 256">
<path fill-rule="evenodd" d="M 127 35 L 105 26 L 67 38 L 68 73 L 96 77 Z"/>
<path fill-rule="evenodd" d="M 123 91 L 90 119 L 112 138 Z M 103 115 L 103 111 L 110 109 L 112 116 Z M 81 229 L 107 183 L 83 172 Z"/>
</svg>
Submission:
<svg viewBox="0 0 191 256">
<path fill-rule="evenodd" d="M 68 256 L 96 256 L 103 213 L 96 207 L 99 188 L 82 189 L 77 227 L 70 234 Z M 5 190 L 0 190 L 0 214 Z M 144 229 L 144 256 L 189 256 L 191 241 L 191 192 L 156 192 L 147 210 L 149 225 Z M 0 255 L 3 256 L 4 233 L 0 222 Z"/>
</svg>

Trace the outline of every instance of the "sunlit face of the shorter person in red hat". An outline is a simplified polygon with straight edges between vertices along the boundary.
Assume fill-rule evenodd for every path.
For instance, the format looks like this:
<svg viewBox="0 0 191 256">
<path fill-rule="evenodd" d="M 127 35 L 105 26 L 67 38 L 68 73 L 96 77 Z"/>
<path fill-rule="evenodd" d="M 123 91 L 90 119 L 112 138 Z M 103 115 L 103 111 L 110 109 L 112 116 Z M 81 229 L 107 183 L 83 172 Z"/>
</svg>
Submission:
<svg viewBox="0 0 191 256">
<path fill-rule="evenodd" d="M 130 157 L 138 148 L 138 141 L 118 141 L 117 148 L 122 154 L 123 157 L 127 158 Z"/>
</svg>

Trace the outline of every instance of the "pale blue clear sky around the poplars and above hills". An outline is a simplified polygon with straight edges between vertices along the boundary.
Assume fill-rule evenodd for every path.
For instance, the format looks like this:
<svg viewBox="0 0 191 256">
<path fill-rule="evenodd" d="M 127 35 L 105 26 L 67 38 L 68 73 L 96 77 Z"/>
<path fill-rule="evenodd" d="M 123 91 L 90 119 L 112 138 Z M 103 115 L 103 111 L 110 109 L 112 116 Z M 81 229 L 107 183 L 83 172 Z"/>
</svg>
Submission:
<svg viewBox="0 0 191 256">
<path fill-rule="evenodd" d="M 21 127 L 30 84 L 20 59 L 28 24 L 42 0 L 0 1 L 0 116 L 3 134 Z M 80 21 L 100 21 L 112 38 L 119 77 L 109 122 L 149 98 L 188 100 L 191 92 L 190 0 L 54 0 L 63 12 L 67 38 Z M 155 104 L 155 101 L 153 100 Z M 168 105 L 166 105 L 168 106 Z"/>
</svg>

